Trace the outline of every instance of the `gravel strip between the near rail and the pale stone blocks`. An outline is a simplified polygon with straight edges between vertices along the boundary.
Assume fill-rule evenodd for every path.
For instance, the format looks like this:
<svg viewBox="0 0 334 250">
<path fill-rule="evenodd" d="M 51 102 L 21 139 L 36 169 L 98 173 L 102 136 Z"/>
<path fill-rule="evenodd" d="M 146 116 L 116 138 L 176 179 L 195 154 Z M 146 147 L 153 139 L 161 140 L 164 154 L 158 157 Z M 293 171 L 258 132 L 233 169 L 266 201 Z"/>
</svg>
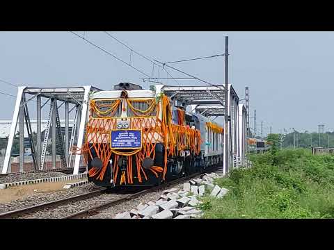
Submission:
<svg viewBox="0 0 334 250">
<path fill-rule="evenodd" d="M 169 187 L 164 188 L 164 190 L 168 190 L 170 188 L 177 188 L 178 190 L 182 190 L 183 183 L 170 185 Z M 148 194 L 144 194 L 141 197 L 136 197 L 131 201 L 126 201 L 111 208 L 106 208 L 100 211 L 100 213 L 98 213 L 97 215 L 90 216 L 89 219 L 113 219 L 113 217 L 115 217 L 118 213 L 123 213 L 125 211 L 130 211 L 133 208 L 136 208 L 136 206 L 138 206 L 141 202 L 148 203 L 148 201 L 157 201 L 164 190 L 159 190 L 158 192 L 150 192 Z"/>
</svg>

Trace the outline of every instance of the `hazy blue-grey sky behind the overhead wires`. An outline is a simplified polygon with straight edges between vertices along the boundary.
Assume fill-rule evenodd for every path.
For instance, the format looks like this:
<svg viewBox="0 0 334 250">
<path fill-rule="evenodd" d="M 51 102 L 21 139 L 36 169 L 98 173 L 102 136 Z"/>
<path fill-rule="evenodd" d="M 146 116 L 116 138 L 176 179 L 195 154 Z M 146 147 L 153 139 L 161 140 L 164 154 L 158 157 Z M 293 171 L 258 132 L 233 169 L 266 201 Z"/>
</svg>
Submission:
<svg viewBox="0 0 334 250">
<path fill-rule="evenodd" d="M 104 32 L 75 31 L 78 35 L 129 62 L 130 51 Z M 334 83 L 333 32 L 113 32 L 138 53 L 161 62 L 224 53 L 229 36 L 229 81 L 240 99 L 249 88 L 250 116 L 257 113 L 257 134 L 334 130 L 331 115 Z M 169 78 L 152 63 L 132 53 L 132 65 L 154 77 Z M 224 58 L 175 63 L 173 67 L 214 84 L 224 83 Z M 187 77 L 168 69 L 177 77 Z M 0 32 L 0 79 L 15 85 L 75 87 L 93 85 L 111 90 L 120 82 L 143 84 L 147 78 L 70 32 Z M 165 81 L 177 85 L 175 81 Z M 182 85 L 205 85 L 179 81 Z M 152 83 L 144 83 L 144 87 Z M 1 92 L 16 88 L 0 82 Z M 0 119 L 12 119 L 15 99 L 0 94 Z M 253 128 L 253 118 L 250 118 Z"/>
</svg>

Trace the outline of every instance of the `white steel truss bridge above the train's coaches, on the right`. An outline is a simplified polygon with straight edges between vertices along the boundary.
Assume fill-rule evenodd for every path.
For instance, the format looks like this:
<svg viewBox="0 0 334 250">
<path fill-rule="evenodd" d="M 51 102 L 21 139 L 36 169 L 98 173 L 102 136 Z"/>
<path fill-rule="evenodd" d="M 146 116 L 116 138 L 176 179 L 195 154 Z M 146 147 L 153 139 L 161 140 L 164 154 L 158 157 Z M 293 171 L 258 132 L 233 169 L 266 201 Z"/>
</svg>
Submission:
<svg viewBox="0 0 334 250">
<path fill-rule="evenodd" d="M 225 108 L 228 109 L 228 129 L 224 129 L 224 133 L 228 134 L 228 143 L 223 140 L 228 147 L 228 155 L 224 153 L 223 174 L 228 173 L 226 168 L 226 160 L 228 165 L 233 166 L 233 156 L 240 159 L 239 162 L 243 164 L 246 156 L 246 128 L 244 124 L 246 122 L 245 107 L 239 105 L 239 97 L 235 92 L 232 85 L 228 84 L 228 101 L 225 105 L 225 86 L 168 86 L 161 87 L 161 92 L 164 92 L 176 106 L 191 106 L 193 112 L 203 115 L 205 117 L 224 117 Z M 225 152 L 225 150 L 224 150 Z M 242 160 L 241 160 L 242 159 Z"/>
</svg>

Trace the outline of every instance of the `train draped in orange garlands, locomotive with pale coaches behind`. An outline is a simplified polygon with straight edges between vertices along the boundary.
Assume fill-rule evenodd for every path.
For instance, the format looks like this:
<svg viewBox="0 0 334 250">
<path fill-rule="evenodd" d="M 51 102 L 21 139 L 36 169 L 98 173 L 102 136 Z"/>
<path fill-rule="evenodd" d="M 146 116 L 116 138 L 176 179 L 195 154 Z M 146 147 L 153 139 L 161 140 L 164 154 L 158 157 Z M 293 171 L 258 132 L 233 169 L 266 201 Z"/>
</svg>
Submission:
<svg viewBox="0 0 334 250">
<path fill-rule="evenodd" d="M 163 87 L 119 83 L 90 93 L 81 148 L 88 181 L 108 188 L 160 185 L 223 163 L 223 128 L 174 106 Z"/>
</svg>

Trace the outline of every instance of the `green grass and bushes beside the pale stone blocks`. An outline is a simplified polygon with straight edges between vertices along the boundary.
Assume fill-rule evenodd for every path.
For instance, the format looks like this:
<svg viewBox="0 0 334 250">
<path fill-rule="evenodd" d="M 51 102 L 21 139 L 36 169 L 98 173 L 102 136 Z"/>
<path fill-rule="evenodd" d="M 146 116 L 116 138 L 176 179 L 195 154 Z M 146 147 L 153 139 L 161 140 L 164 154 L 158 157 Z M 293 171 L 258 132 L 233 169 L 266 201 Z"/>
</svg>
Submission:
<svg viewBox="0 0 334 250">
<path fill-rule="evenodd" d="M 252 168 L 216 179 L 230 192 L 203 197 L 204 218 L 334 218 L 334 156 L 285 149 L 250 160 Z"/>
</svg>

